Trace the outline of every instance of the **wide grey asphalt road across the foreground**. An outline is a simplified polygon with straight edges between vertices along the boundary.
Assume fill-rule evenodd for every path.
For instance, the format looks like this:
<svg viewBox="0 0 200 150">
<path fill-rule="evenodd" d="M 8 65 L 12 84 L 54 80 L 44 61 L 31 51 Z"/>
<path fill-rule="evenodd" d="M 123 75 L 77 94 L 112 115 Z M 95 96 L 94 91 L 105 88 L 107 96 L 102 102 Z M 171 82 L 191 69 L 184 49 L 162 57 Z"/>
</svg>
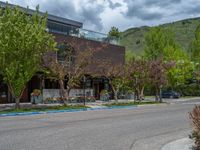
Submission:
<svg viewBox="0 0 200 150">
<path fill-rule="evenodd" d="M 191 132 L 193 104 L 1 117 L 0 150 L 160 150 Z"/>
</svg>

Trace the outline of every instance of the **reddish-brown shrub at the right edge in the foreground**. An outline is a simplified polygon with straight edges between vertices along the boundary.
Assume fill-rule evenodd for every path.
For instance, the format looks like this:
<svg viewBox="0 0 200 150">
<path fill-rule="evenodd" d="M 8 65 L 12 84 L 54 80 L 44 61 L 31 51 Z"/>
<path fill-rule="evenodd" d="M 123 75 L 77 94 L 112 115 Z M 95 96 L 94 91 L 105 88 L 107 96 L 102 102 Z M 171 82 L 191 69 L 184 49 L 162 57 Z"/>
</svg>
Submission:
<svg viewBox="0 0 200 150">
<path fill-rule="evenodd" d="M 192 120 L 192 125 L 194 127 L 190 138 L 194 140 L 193 150 L 200 150 L 200 106 L 195 106 L 195 108 L 190 112 L 190 119 Z"/>
</svg>

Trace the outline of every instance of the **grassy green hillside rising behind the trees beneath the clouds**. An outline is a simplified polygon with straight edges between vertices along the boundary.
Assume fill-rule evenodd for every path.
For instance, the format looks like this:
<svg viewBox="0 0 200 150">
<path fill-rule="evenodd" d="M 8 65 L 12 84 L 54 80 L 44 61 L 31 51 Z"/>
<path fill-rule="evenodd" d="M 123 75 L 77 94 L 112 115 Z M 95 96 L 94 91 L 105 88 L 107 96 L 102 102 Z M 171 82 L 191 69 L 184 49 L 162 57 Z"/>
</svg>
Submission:
<svg viewBox="0 0 200 150">
<path fill-rule="evenodd" d="M 200 24 L 200 18 L 185 19 L 177 22 L 160 25 L 164 28 L 170 28 L 175 33 L 175 39 L 187 51 L 194 38 L 196 27 Z M 136 54 L 142 54 L 144 51 L 144 36 L 151 27 L 143 26 L 131 28 L 121 33 L 121 45 L 126 50 L 134 51 Z"/>
</svg>

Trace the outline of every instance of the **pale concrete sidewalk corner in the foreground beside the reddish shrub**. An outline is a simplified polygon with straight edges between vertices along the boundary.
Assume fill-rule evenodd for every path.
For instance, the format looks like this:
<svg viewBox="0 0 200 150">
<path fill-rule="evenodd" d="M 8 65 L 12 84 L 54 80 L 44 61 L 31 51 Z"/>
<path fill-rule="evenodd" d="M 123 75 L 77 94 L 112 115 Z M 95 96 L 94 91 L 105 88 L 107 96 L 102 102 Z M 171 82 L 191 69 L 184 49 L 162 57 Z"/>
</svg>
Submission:
<svg viewBox="0 0 200 150">
<path fill-rule="evenodd" d="M 161 150 L 191 150 L 192 145 L 191 139 L 183 138 L 164 145 Z"/>
</svg>

